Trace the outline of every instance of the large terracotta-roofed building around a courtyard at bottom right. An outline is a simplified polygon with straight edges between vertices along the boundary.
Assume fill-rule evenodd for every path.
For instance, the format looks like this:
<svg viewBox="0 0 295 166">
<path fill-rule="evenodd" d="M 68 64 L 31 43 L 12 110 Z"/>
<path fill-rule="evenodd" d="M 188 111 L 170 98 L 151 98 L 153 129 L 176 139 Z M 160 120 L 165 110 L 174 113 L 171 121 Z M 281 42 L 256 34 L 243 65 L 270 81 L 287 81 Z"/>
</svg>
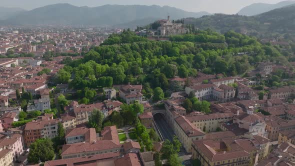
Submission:
<svg viewBox="0 0 295 166">
<path fill-rule="evenodd" d="M 194 140 L 192 158 L 199 159 L 201 165 L 254 165 L 268 155 L 270 140 L 259 135 L 247 136 Z"/>
</svg>

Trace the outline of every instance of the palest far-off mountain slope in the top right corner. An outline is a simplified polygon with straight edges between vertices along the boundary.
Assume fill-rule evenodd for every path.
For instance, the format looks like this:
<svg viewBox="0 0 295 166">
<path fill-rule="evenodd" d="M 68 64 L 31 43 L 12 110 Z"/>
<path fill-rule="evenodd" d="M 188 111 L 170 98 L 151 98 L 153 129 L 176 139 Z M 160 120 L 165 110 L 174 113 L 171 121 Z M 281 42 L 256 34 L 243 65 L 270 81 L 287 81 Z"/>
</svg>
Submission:
<svg viewBox="0 0 295 166">
<path fill-rule="evenodd" d="M 270 11 L 275 8 L 280 8 L 280 7 L 287 6 L 294 3 L 295 3 L 295 0 L 285 0 L 285 1 L 278 2 L 276 4 L 253 3 L 240 9 L 237 12 L 237 14 L 247 15 L 247 16 L 257 15 L 263 12 Z"/>
</svg>

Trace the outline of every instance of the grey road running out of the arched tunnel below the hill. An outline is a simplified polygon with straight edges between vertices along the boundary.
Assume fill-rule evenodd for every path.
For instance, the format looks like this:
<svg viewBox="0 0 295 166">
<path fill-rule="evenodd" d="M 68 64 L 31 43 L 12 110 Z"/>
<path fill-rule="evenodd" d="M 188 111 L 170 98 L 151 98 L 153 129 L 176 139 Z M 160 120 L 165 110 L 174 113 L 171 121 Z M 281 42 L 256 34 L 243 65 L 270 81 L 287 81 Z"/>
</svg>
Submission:
<svg viewBox="0 0 295 166">
<path fill-rule="evenodd" d="M 170 141 L 173 140 L 174 132 L 169 124 L 165 121 L 164 116 L 161 113 L 156 113 L 153 115 L 153 120 L 156 123 L 159 132 L 163 136 L 163 139 L 169 139 Z"/>
</svg>

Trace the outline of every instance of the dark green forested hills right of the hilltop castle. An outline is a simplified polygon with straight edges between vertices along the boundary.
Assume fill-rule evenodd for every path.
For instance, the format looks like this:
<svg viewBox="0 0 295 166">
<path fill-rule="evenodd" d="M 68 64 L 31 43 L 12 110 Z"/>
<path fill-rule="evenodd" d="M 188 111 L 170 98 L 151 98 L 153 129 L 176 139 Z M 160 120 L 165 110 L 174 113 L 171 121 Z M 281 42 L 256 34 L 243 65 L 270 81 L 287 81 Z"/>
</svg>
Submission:
<svg viewBox="0 0 295 166">
<path fill-rule="evenodd" d="M 185 18 L 184 23 L 199 29 L 212 28 L 224 33 L 228 30 L 260 36 L 270 33 L 294 33 L 295 4 L 276 8 L 258 15 L 213 14 L 200 18 Z"/>
</svg>

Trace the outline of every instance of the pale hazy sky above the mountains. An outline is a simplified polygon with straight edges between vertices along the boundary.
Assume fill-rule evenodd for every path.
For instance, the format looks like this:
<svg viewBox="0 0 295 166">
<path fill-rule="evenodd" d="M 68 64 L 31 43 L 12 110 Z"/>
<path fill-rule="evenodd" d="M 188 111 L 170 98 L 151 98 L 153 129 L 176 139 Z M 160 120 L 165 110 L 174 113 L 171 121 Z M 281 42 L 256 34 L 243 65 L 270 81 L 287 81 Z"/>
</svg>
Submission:
<svg viewBox="0 0 295 166">
<path fill-rule="evenodd" d="M 0 6 L 33 9 L 54 3 L 70 3 L 77 6 L 99 6 L 103 4 L 157 4 L 169 5 L 187 11 L 208 11 L 211 13 L 236 13 L 251 3 L 277 3 L 283 0 L 0 0 Z"/>
</svg>

